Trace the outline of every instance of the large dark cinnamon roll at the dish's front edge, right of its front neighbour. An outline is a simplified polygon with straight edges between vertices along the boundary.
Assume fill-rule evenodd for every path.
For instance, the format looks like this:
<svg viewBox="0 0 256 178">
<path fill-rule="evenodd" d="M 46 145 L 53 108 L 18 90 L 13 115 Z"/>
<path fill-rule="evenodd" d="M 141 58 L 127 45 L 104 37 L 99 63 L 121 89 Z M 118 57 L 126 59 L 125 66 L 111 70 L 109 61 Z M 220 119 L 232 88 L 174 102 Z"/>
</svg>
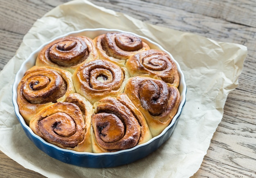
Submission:
<svg viewBox="0 0 256 178">
<path fill-rule="evenodd" d="M 116 152 L 139 143 L 141 127 L 130 109 L 114 97 L 94 103 L 92 149 L 94 153 Z"/>
</svg>

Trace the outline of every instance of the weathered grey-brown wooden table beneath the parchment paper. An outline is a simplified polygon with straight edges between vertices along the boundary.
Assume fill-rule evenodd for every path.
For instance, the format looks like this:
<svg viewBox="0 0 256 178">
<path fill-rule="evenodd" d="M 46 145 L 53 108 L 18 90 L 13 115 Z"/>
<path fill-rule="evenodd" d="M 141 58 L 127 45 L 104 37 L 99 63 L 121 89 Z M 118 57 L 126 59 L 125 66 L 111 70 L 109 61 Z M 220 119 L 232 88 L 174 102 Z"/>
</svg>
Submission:
<svg viewBox="0 0 256 178">
<path fill-rule="evenodd" d="M 32 24 L 67 1 L 0 0 L 0 70 Z M 256 177 L 256 0 L 90 1 L 144 22 L 248 47 L 239 86 L 229 94 L 222 121 L 193 177 Z M 0 152 L 0 177 L 44 176 Z"/>
</svg>

